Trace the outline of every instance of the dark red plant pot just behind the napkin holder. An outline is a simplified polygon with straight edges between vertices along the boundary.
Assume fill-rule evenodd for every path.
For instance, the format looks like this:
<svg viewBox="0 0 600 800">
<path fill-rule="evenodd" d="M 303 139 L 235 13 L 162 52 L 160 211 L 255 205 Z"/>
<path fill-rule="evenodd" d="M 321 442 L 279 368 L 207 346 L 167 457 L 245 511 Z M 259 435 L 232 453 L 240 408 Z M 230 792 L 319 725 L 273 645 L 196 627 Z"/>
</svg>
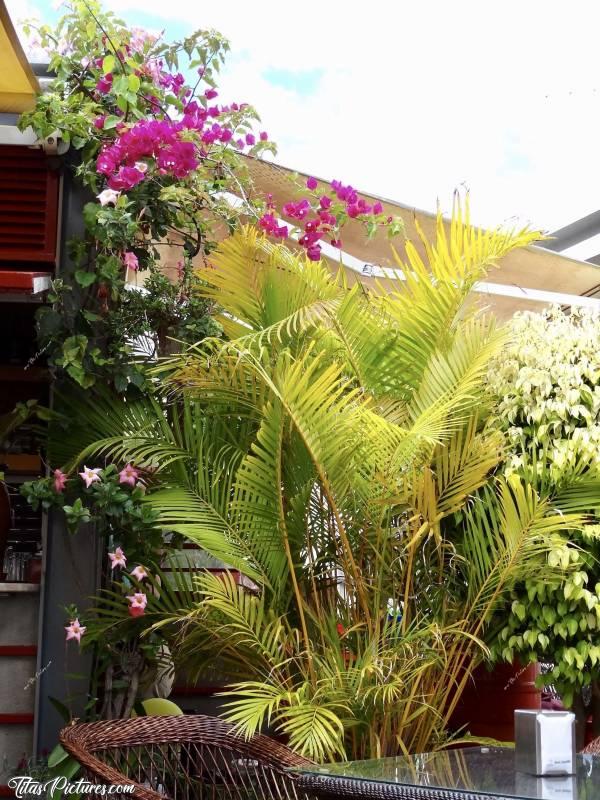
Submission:
<svg viewBox="0 0 600 800">
<path fill-rule="evenodd" d="M 542 691 L 535 686 L 539 673 L 539 664 L 496 664 L 491 671 L 480 665 L 463 691 L 451 728 L 466 726 L 473 736 L 514 741 L 515 709 L 542 707 Z"/>
</svg>

